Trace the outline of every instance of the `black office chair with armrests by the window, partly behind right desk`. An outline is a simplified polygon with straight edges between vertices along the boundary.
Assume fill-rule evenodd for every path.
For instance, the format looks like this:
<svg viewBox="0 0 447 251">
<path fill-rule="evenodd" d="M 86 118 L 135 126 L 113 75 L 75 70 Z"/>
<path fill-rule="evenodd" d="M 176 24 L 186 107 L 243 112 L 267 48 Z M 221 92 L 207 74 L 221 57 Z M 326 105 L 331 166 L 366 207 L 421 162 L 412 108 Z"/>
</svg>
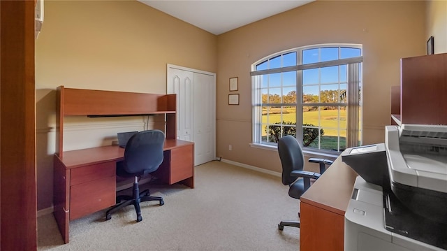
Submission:
<svg viewBox="0 0 447 251">
<path fill-rule="evenodd" d="M 318 179 L 324 173 L 326 165 L 332 164 L 328 159 L 310 158 L 309 162 L 320 164 L 320 173 L 304 171 L 305 157 L 301 146 L 297 139 L 290 135 L 279 138 L 278 152 L 282 165 L 282 183 L 289 186 L 288 195 L 295 199 L 300 199 L 309 189 L 311 180 Z M 285 226 L 300 227 L 300 222 L 282 221 L 278 224 L 278 229 L 283 230 Z"/>
</svg>

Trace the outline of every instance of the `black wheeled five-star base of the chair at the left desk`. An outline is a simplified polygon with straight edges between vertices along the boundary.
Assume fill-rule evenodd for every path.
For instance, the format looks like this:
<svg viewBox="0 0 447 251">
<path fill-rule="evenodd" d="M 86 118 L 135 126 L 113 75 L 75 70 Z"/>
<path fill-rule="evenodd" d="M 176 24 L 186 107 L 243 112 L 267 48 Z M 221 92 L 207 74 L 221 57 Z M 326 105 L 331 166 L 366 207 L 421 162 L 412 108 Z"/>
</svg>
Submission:
<svg viewBox="0 0 447 251">
<path fill-rule="evenodd" d="M 138 181 L 136 181 L 135 179 L 135 182 L 133 183 L 132 196 L 129 195 L 117 196 L 117 204 L 115 206 L 112 206 L 112 208 L 110 208 L 109 210 L 107 210 L 107 212 L 105 212 L 105 220 L 112 219 L 112 213 L 115 213 L 117 210 L 133 204 L 133 207 L 135 207 L 135 213 L 137 214 L 137 222 L 142 221 L 140 202 L 159 201 L 160 206 L 163 206 L 165 204 L 163 198 L 149 195 L 150 195 L 149 189 L 140 192 L 140 189 L 138 188 Z"/>
</svg>

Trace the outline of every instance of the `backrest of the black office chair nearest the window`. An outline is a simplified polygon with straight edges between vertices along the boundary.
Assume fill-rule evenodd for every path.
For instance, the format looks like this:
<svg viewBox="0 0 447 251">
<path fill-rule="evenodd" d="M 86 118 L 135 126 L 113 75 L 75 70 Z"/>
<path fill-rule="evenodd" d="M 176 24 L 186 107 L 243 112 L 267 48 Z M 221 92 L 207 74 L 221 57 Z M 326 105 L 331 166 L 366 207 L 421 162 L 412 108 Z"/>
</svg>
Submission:
<svg viewBox="0 0 447 251">
<path fill-rule="evenodd" d="M 305 156 L 297 139 L 291 135 L 279 138 L 278 141 L 279 159 L 282 166 L 282 183 L 290 185 L 296 180 L 291 176 L 294 170 L 303 170 L 305 166 Z"/>
</svg>

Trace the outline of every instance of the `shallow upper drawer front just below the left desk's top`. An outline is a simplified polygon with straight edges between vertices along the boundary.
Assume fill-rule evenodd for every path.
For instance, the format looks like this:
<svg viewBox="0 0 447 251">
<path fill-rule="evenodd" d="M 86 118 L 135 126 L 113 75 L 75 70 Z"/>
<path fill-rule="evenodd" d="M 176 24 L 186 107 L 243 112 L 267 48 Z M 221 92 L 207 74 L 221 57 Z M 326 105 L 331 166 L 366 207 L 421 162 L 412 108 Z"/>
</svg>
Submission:
<svg viewBox="0 0 447 251">
<path fill-rule="evenodd" d="M 78 185 L 106 177 L 115 177 L 116 162 L 105 162 L 70 169 L 70 185 Z"/>
</svg>

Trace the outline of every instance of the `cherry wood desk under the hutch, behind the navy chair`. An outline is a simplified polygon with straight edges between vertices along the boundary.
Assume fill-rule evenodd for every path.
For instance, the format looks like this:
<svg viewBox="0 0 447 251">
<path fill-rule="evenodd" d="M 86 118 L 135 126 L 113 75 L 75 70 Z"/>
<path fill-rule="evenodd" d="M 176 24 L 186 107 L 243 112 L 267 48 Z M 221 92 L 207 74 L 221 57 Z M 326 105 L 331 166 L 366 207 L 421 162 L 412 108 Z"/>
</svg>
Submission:
<svg viewBox="0 0 447 251">
<path fill-rule="evenodd" d="M 193 188 L 193 143 L 166 139 L 163 150 L 163 163 L 152 174 L 169 185 Z M 117 145 L 54 154 L 54 217 L 64 243 L 70 220 L 115 205 L 116 162 L 123 157 L 124 148 Z"/>
</svg>

